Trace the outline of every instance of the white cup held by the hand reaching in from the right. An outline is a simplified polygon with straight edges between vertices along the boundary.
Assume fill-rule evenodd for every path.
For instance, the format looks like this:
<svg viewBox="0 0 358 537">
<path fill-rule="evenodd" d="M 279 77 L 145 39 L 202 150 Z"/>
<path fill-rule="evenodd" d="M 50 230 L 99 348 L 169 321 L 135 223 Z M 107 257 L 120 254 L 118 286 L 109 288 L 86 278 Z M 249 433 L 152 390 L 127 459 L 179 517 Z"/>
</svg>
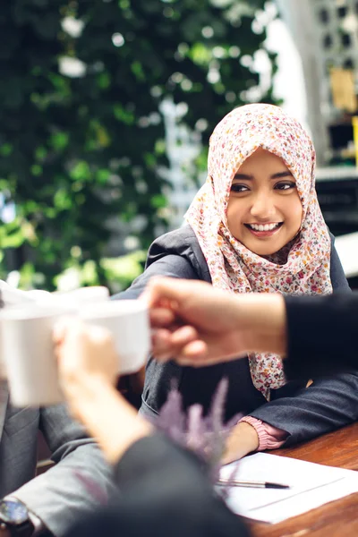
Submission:
<svg viewBox="0 0 358 537">
<path fill-rule="evenodd" d="M 80 311 L 86 324 L 107 328 L 115 339 L 121 375 L 140 371 L 150 351 L 149 311 L 140 300 L 87 304 Z"/>
</svg>

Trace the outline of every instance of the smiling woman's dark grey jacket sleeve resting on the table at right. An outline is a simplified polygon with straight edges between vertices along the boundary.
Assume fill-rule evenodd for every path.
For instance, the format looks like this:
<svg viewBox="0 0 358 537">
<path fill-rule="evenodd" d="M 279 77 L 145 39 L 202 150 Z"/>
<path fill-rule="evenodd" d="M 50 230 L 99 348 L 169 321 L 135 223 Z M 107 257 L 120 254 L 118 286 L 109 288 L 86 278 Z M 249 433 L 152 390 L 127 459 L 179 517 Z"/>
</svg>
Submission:
<svg viewBox="0 0 358 537">
<path fill-rule="evenodd" d="M 358 371 L 313 379 L 309 388 L 274 399 L 250 415 L 286 430 L 285 447 L 336 430 L 358 418 Z"/>
</svg>

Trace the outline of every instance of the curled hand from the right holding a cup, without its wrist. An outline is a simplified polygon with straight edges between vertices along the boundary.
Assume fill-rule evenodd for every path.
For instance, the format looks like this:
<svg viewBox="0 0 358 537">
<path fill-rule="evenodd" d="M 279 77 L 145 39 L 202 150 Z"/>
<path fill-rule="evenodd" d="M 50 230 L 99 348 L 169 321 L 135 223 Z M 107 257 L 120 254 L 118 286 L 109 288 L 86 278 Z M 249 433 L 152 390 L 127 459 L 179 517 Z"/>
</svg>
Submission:
<svg viewBox="0 0 358 537">
<path fill-rule="evenodd" d="M 204 282 L 153 278 L 143 298 L 151 306 L 153 354 L 159 361 L 175 356 L 183 365 L 200 366 L 245 354 L 231 294 Z"/>
</svg>

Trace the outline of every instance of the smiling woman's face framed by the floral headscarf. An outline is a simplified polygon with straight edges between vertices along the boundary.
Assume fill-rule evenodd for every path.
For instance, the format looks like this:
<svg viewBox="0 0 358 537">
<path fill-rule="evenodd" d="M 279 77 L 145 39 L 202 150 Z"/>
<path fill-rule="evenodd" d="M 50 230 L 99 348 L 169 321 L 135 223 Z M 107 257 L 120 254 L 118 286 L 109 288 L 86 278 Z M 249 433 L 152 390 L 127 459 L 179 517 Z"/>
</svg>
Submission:
<svg viewBox="0 0 358 537">
<path fill-rule="evenodd" d="M 281 250 L 298 233 L 303 217 L 294 176 L 281 158 L 257 149 L 237 170 L 227 206 L 227 226 L 260 256 Z"/>
</svg>

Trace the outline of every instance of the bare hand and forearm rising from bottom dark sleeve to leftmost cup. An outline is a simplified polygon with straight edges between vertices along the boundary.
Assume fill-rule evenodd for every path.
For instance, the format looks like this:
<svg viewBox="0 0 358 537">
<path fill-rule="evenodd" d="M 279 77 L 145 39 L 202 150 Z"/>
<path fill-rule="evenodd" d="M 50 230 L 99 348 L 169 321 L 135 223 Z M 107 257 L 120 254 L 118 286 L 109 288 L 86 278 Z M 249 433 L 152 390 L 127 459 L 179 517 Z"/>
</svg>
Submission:
<svg viewBox="0 0 358 537">
<path fill-rule="evenodd" d="M 107 461 L 115 464 L 152 427 L 115 389 L 118 357 L 113 338 L 105 328 L 74 319 L 61 322 L 54 339 L 70 411 L 97 439 Z"/>
</svg>

